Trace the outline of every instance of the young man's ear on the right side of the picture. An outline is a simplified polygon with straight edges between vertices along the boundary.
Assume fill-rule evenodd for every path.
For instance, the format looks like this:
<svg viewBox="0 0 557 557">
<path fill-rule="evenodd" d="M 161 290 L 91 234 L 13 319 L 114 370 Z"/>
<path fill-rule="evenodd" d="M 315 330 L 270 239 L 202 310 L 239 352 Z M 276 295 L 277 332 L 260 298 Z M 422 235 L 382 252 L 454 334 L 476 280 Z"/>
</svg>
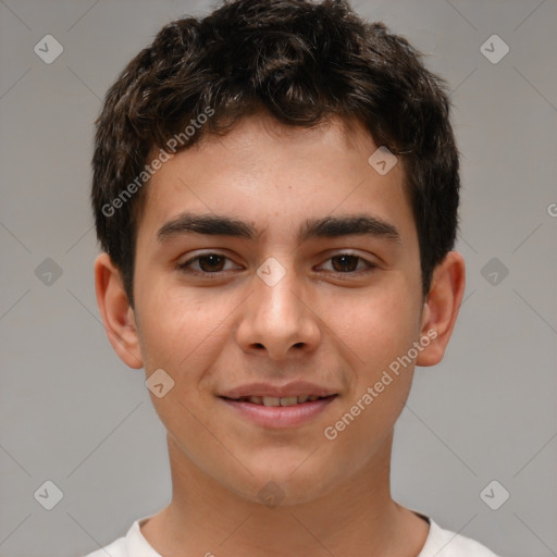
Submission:
<svg viewBox="0 0 557 557">
<path fill-rule="evenodd" d="M 445 355 L 457 320 L 466 286 L 465 260 L 449 251 L 433 271 L 432 286 L 422 312 L 420 335 L 430 343 L 419 354 L 417 366 L 435 366 Z"/>
</svg>

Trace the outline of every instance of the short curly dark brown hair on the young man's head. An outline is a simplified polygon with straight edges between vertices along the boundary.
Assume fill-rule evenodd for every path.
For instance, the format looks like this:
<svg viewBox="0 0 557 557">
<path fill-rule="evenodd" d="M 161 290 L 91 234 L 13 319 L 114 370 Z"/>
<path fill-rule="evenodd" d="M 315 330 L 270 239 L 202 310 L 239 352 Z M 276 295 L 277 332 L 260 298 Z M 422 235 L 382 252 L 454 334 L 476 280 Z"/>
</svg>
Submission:
<svg viewBox="0 0 557 557">
<path fill-rule="evenodd" d="M 122 273 L 132 307 L 137 225 L 153 153 L 159 149 L 162 157 L 176 144 L 173 137 L 181 138 L 176 151 L 205 134 L 225 134 L 259 110 L 305 127 L 354 117 L 399 157 L 425 296 L 434 268 L 455 244 L 460 178 L 448 88 L 422 58 L 345 0 L 225 0 L 203 18 L 165 25 L 108 90 L 96 122 L 97 236 Z M 211 117 L 201 120 L 208 110 Z M 189 125 L 198 122 L 203 125 Z M 194 133 L 186 134 L 188 127 Z"/>
</svg>

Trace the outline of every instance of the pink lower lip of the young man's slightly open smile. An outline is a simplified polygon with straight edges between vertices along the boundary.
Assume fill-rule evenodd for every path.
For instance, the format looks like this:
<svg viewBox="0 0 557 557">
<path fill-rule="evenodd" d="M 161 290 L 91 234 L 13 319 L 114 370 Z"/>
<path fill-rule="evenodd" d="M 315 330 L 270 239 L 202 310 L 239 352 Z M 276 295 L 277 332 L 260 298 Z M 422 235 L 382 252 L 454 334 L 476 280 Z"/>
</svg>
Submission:
<svg viewBox="0 0 557 557">
<path fill-rule="evenodd" d="M 231 408 L 234 408 L 244 418 L 247 418 L 259 425 L 281 429 L 294 428 L 296 425 L 304 425 L 305 423 L 308 423 L 310 420 L 323 412 L 335 398 L 336 395 L 326 398 L 319 398 L 311 403 L 301 403 L 295 406 L 253 405 L 251 403 L 231 400 L 228 398 L 221 398 L 221 400 Z"/>
</svg>

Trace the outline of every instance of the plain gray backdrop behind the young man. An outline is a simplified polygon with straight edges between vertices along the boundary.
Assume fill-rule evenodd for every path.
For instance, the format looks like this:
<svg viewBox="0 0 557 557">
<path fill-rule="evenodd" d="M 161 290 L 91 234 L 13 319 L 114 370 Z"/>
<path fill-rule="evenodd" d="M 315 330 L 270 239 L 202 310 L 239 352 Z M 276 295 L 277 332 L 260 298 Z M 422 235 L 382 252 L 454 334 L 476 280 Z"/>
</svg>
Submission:
<svg viewBox="0 0 557 557">
<path fill-rule="evenodd" d="M 161 25 L 212 5 L 0 1 L 1 556 L 84 555 L 169 500 L 144 372 L 112 352 L 96 307 L 92 120 Z M 417 370 L 394 496 L 500 555 L 557 555 L 557 2 L 352 5 L 430 54 L 462 152 L 466 299 L 443 363 Z M 51 64 L 34 52 L 47 34 L 64 48 Z M 480 50 L 493 34 L 510 48 L 498 63 Z M 50 511 L 34 497 L 47 480 L 63 492 Z M 510 493 L 498 510 L 480 497 L 492 480 Z"/>
</svg>

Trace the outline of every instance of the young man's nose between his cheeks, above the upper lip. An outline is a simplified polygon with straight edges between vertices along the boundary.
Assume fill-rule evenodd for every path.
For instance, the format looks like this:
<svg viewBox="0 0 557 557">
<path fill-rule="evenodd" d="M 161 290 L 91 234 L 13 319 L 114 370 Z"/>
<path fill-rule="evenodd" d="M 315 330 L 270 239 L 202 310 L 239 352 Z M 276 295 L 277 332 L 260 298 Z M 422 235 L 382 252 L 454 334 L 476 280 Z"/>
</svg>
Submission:
<svg viewBox="0 0 557 557">
<path fill-rule="evenodd" d="M 319 345 L 319 308 L 311 285 L 292 267 L 285 270 L 275 284 L 253 276 L 253 293 L 242 305 L 236 331 L 245 352 L 267 352 L 270 359 L 284 361 L 307 355 Z"/>
</svg>

